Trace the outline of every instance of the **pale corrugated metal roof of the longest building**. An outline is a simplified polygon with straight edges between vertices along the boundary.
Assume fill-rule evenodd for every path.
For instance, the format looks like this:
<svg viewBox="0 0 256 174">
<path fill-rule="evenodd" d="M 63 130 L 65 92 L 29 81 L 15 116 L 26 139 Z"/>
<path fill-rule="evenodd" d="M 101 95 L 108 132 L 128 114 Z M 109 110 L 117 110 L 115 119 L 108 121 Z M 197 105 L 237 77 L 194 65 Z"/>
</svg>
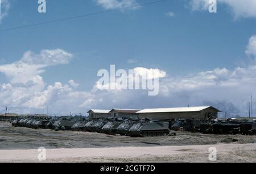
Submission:
<svg viewBox="0 0 256 174">
<path fill-rule="evenodd" d="M 170 108 L 157 108 L 157 109 L 143 109 L 137 113 L 179 113 L 179 112 L 195 112 L 207 109 L 212 106 L 199 106 L 199 107 L 170 107 Z M 214 107 L 213 107 L 214 108 Z M 215 109 L 215 108 L 214 108 Z M 217 110 L 217 109 L 216 109 Z"/>
</svg>

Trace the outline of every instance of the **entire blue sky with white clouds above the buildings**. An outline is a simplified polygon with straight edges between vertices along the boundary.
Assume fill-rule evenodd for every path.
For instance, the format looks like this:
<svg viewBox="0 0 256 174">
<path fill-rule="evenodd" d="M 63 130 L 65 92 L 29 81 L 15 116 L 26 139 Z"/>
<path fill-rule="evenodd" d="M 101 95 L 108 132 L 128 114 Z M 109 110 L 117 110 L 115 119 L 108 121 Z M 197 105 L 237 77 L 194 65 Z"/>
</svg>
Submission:
<svg viewBox="0 0 256 174">
<path fill-rule="evenodd" d="M 1 0 L 0 111 L 67 115 L 89 109 L 212 105 L 248 115 L 256 86 L 256 1 Z M 137 6 L 122 9 L 123 7 Z M 71 20 L 44 23 L 72 16 Z M 158 96 L 99 90 L 97 72 L 164 72 Z M 256 100 L 253 113 L 256 115 Z M 222 113 L 223 114 L 223 113 Z"/>
</svg>

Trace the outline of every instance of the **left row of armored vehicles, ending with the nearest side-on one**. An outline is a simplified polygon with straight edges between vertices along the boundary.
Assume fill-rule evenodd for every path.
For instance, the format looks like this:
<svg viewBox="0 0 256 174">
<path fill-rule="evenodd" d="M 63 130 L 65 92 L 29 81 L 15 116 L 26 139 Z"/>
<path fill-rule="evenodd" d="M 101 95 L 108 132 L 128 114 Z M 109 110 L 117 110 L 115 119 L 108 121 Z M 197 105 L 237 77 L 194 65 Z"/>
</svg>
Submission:
<svg viewBox="0 0 256 174">
<path fill-rule="evenodd" d="M 164 136 L 170 133 L 169 122 L 149 119 L 72 119 L 72 118 L 19 118 L 12 122 L 15 127 L 99 132 L 126 136 Z"/>
</svg>

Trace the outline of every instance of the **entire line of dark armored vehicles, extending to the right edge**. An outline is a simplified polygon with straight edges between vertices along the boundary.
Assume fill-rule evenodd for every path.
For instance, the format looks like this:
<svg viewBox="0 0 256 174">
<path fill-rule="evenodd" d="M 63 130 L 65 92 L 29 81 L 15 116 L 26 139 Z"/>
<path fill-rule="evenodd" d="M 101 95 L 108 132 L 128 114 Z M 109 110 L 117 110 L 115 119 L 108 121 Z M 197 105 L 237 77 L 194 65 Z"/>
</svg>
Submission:
<svg viewBox="0 0 256 174">
<path fill-rule="evenodd" d="M 53 129 L 100 132 L 127 136 L 163 136 L 170 130 L 201 132 L 203 134 L 243 134 L 255 135 L 256 123 L 246 121 L 204 121 L 200 119 L 174 119 L 171 121 L 152 121 L 150 119 L 87 119 L 72 117 L 19 118 L 13 126 L 32 129 Z"/>
</svg>

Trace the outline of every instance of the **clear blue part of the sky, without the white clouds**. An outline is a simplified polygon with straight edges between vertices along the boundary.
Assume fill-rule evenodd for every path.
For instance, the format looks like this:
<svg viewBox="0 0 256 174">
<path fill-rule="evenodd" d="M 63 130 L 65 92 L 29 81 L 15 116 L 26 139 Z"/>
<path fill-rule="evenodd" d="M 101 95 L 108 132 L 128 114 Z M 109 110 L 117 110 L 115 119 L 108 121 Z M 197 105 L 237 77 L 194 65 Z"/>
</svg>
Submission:
<svg viewBox="0 0 256 174">
<path fill-rule="evenodd" d="M 167 76 L 172 78 L 186 77 L 188 74 L 207 72 L 216 68 L 233 71 L 254 61 L 254 56 L 251 56 L 253 54 L 248 56 L 245 51 L 249 39 L 256 34 L 255 14 L 244 13 L 245 9 L 238 8 L 239 3 L 236 6 L 225 0 L 218 3 L 216 14 L 210 14 L 204 7 L 199 6 L 199 9 L 191 7 L 196 1 L 166 1 L 138 9 L 118 10 L 41 26 L 2 31 L 0 64 L 15 63 L 27 51 L 38 54 L 43 49 L 63 49 L 72 53 L 73 58 L 68 64 L 44 68 L 44 73 L 40 73 L 40 76 L 46 84 L 45 88 L 55 82 L 67 84 L 69 80 L 73 80 L 79 84 L 76 91 L 90 92 L 98 80 L 98 70 L 109 69 L 110 64 L 122 69 L 158 68 L 167 72 Z M 2 18 L 0 30 L 108 10 L 96 0 L 48 0 L 47 13 L 39 14 L 36 0 L 8 2 L 10 9 Z M 150 1 L 134 0 L 133 2 Z M 245 3 L 256 9 L 253 1 L 247 0 Z M 172 12 L 174 16 L 168 16 L 168 12 Z M 134 60 L 135 63 L 128 63 L 129 60 Z M 0 84 L 9 83 L 10 77 L 6 73 L 0 73 Z M 207 92 L 210 93 L 210 90 Z M 250 93 L 253 93 L 253 89 Z M 170 100 L 180 100 L 180 98 L 182 97 Z M 237 100 L 239 99 L 238 97 Z M 84 100 L 86 101 L 87 98 L 85 97 Z M 226 101 L 224 98 L 214 100 Z M 187 105 L 183 102 L 185 98 L 177 103 L 168 102 L 167 98 L 164 101 L 167 102 L 148 102 L 138 107 Z M 195 102 L 195 105 L 203 102 L 205 99 Z M 119 107 L 114 103 L 111 106 Z M 243 101 L 243 104 L 245 103 L 246 100 Z M 12 102 L 9 104 L 14 105 Z M 14 107 L 25 107 L 23 104 L 17 103 Z M 96 102 L 94 105 L 69 110 L 82 112 L 90 106 L 101 107 L 99 109 L 111 107 L 97 105 Z M 137 105 L 133 105 L 131 101 L 122 105 L 122 107 L 134 106 Z M 46 105 L 43 104 L 39 109 L 45 107 Z M 238 110 L 240 110 L 238 113 L 246 113 L 241 111 L 242 109 Z"/>
</svg>

